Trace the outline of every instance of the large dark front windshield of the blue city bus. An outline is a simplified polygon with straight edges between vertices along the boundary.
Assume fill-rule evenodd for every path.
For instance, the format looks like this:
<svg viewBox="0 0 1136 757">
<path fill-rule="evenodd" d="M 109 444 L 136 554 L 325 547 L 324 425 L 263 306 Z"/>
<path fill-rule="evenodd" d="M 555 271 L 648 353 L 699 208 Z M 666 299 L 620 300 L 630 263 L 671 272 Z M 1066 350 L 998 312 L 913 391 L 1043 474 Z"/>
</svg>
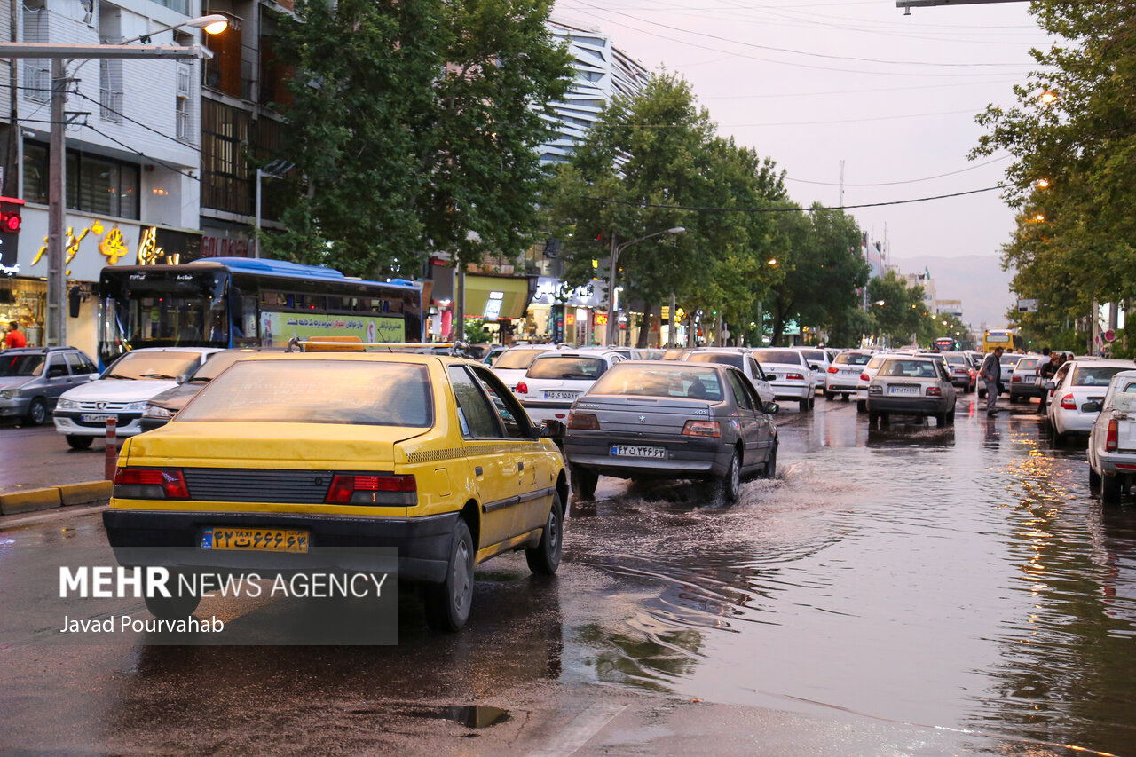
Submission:
<svg viewBox="0 0 1136 757">
<path fill-rule="evenodd" d="M 228 347 L 223 271 L 154 269 L 103 277 L 100 355 L 105 361 L 137 347 Z"/>
</svg>

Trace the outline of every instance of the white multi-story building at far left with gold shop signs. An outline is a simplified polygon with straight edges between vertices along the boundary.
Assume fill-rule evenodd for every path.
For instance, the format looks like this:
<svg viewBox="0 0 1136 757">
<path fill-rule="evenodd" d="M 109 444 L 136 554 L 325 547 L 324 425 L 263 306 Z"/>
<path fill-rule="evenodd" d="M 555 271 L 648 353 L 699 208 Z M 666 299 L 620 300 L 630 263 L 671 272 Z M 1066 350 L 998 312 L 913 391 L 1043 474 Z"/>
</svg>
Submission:
<svg viewBox="0 0 1136 757">
<path fill-rule="evenodd" d="M 12 18 L 12 13 L 16 14 Z M 0 3 L 15 42 L 186 45 L 200 0 L 20 0 Z M 15 253 L 6 244 L 0 318 L 44 342 L 51 61 L 0 60 L 0 160 L 6 197 L 24 200 Z M 80 302 L 72 344 L 93 352 L 93 283 L 107 265 L 192 257 L 200 248 L 201 64 L 197 60 L 70 60 L 66 101 L 67 288 Z M 15 86 L 12 86 L 15 84 Z M 6 240 L 16 241 L 16 240 Z"/>
</svg>

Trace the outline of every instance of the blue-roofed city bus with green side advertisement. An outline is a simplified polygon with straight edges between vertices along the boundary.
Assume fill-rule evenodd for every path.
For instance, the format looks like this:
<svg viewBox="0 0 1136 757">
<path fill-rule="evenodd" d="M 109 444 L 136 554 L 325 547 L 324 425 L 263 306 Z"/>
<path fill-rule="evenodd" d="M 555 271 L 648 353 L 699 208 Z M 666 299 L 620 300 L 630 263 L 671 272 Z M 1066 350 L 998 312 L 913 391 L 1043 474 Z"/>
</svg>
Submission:
<svg viewBox="0 0 1136 757">
<path fill-rule="evenodd" d="M 423 339 L 421 289 L 262 258 L 108 266 L 99 277 L 99 361 L 141 347 L 283 347 L 293 336 Z"/>
</svg>

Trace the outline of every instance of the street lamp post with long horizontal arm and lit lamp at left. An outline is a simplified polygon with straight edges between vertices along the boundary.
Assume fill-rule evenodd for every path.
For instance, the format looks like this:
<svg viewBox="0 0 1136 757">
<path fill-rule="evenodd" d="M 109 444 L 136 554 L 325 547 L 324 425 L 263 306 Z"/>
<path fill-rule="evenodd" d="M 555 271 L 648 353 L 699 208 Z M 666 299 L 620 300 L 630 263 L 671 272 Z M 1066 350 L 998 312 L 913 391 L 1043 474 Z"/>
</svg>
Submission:
<svg viewBox="0 0 1136 757">
<path fill-rule="evenodd" d="M 67 86 L 72 75 L 67 65 L 91 58 L 158 58 L 164 60 L 200 59 L 211 53 L 198 43 L 187 47 L 149 44 L 150 35 L 185 26 L 204 28 L 210 34 L 225 30 L 228 20 L 220 14 L 191 18 L 181 24 L 136 36 L 119 44 L 60 44 L 55 42 L 0 42 L 0 58 L 51 59 L 51 140 L 48 156 L 48 313 L 47 346 L 67 344 L 67 274 L 64 265 L 64 226 L 67 224 Z M 132 45 L 133 42 L 145 42 Z M 81 63 L 80 66 L 83 64 Z M 78 70 L 78 67 L 75 68 Z"/>
</svg>

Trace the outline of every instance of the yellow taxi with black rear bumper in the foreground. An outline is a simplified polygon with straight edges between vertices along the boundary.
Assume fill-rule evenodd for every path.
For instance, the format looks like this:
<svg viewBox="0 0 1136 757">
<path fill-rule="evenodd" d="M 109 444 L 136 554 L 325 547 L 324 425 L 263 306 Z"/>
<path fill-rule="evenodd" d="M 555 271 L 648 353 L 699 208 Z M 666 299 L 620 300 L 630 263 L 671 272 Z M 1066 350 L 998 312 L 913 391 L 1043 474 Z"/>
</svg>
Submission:
<svg viewBox="0 0 1136 757">
<path fill-rule="evenodd" d="M 103 523 L 125 566 L 359 568 L 398 550 L 442 630 L 469 616 L 474 566 L 560 564 L 568 484 L 554 436 L 487 366 L 407 352 L 250 353 L 167 425 L 126 440 Z M 364 565 L 364 567 L 366 567 Z M 185 618 L 200 598 L 148 598 Z"/>
</svg>

